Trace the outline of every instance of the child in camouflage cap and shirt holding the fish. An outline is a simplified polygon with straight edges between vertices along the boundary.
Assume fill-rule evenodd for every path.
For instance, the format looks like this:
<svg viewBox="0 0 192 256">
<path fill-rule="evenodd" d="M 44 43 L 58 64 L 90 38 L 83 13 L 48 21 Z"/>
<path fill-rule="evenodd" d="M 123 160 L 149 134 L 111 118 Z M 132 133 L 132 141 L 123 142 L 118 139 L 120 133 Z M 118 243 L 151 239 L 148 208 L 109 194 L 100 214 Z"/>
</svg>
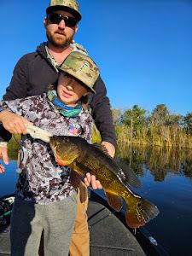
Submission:
<svg viewBox="0 0 192 256">
<path fill-rule="evenodd" d="M 99 71 L 89 56 L 73 51 L 61 66 L 56 90 L 42 96 L 0 102 L 54 135 L 91 142 L 92 118 L 84 108 Z M 45 255 L 68 255 L 76 217 L 77 193 L 67 166 L 58 166 L 48 143 L 29 135 L 21 139 L 21 173 L 11 219 L 11 255 L 38 255 L 44 231 Z"/>
</svg>

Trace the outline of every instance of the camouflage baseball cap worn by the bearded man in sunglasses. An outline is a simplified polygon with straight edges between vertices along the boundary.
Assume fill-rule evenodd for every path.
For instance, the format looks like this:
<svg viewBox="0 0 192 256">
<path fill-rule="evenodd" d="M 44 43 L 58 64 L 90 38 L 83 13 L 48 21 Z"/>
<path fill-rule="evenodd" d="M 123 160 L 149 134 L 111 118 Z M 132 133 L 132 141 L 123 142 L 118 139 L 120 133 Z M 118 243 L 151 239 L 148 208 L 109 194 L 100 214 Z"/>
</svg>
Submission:
<svg viewBox="0 0 192 256">
<path fill-rule="evenodd" d="M 55 10 L 65 10 L 68 13 L 74 15 L 79 21 L 81 20 L 81 14 L 79 12 L 79 4 L 76 0 L 51 0 L 49 7 L 46 9 L 47 15 Z"/>
</svg>

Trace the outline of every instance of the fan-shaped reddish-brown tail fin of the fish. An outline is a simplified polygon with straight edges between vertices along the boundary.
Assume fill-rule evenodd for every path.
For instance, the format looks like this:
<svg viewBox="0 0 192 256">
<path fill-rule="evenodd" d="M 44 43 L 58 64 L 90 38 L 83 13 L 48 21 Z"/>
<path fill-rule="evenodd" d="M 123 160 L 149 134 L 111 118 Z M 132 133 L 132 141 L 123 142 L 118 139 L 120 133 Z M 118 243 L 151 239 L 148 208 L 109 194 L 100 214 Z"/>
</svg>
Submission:
<svg viewBox="0 0 192 256">
<path fill-rule="evenodd" d="M 126 201 L 125 219 L 129 227 L 137 229 L 159 214 L 158 208 L 142 197 L 129 198 Z"/>
</svg>

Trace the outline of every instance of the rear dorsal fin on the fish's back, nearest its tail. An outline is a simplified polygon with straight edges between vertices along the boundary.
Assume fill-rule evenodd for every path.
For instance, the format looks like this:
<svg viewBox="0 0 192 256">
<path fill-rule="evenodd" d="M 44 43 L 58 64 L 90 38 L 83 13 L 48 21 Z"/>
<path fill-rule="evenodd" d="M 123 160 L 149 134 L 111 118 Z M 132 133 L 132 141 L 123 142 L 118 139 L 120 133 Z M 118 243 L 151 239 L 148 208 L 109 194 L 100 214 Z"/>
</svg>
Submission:
<svg viewBox="0 0 192 256">
<path fill-rule="evenodd" d="M 132 170 L 131 166 L 127 166 L 125 163 L 118 163 L 119 167 L 123 170 L 125 174 L 125 180 L 127 183 L 135 188 L 141 188 L 142 184 L 138 179 L 136 173 Z"/>
</svg>

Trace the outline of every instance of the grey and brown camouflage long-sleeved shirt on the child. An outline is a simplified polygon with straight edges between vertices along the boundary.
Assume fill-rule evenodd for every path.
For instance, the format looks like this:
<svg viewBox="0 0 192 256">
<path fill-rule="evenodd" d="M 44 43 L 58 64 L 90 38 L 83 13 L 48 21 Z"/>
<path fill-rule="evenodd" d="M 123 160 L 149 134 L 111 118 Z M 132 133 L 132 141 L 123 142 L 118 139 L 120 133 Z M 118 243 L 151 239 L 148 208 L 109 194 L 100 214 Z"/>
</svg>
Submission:
<svg viewBox="0 0 192 256">
<path fill-rule="evenodd" d="M 2 101 L 2 110 L 17 113 L 53 135 L 79 136 L 91 142 L 92 118 L 89 111 L 82 110 L 76 118 L 64 117 L 49 102 L 46 94 Z M 73 195 L 70 169 L 57 165 L 49 143 L 25 135 L 20 146 L 22 172 L 16 184 L 16 195 L 42 205 Z"/>
</svg>

